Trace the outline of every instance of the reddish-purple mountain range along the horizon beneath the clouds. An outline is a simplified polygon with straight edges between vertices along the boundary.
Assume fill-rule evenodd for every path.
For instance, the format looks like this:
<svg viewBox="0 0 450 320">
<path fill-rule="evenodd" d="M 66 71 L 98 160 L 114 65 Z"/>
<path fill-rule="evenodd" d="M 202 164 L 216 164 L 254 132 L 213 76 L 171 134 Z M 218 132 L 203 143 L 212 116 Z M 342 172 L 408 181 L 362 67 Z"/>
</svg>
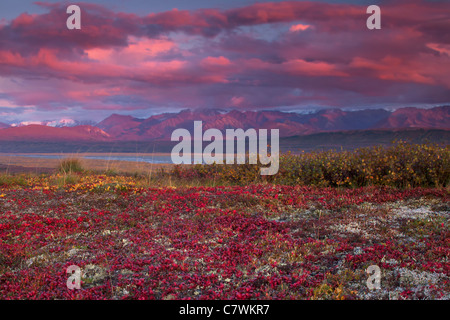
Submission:
<svg viewBox="0 0 450 320">
<path fill-rule="evenodd" d="M 325 109 L 302 114 L 282 111 L 183 110 L 146 119 L 112 114 L 96 125 L 11 126 L 0 123 L 1 141 L 168 141 L 175 129 L 192 132 L 193 123 L 203 121 L 203 130 L 248 128 L 279 129 L 280 137 L 354 130 L 398 130 L 408 128 L 450 130 L 450 106 L 431 109 L 400 108 L 345 111 Z M 54 123 L 54 122 L 52 122 Z M 59 123 L 59 122 L 58 122 Z M 63 124 L 77 122 L 65 121 Z"/>
</svg>

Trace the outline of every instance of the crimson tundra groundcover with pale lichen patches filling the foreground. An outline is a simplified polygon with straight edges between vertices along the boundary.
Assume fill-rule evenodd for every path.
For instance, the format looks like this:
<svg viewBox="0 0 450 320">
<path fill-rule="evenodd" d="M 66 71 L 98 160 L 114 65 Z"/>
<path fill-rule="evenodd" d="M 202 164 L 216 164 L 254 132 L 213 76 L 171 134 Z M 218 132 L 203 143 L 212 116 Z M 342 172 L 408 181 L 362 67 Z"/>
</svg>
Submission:
<svg viewBox="0 0 450 320">
<path fill-rule="evenodd" d="M 0 193 L 2 299 L 449 298 L 446 189 Z M 380 290 L 367 288 L 370 265 Z"/>
</svg>

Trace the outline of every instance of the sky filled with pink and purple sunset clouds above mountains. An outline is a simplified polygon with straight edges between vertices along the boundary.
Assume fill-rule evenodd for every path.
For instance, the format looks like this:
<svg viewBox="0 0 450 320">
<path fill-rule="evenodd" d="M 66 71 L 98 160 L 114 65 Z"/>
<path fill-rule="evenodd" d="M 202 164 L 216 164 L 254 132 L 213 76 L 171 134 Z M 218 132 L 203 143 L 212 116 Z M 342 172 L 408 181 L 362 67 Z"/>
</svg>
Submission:
<svg viewBox="0 0 450 320">
<path fill-rule="evenodd" d="M 0 122 L 449 104 L 449 30 L 449 1 L 2 1 Z"/>
</svg>

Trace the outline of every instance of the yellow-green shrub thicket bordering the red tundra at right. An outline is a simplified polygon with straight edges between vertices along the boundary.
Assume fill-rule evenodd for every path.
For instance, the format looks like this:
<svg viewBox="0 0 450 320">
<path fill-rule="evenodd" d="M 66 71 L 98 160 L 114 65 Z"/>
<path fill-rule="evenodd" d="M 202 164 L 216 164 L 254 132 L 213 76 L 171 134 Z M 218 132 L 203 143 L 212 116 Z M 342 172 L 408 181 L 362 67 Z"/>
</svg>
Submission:
<svg viewBox="0 0 450 320">
<path fill-rule="evenodd" d="M 277 174 L 261 176 L 260 165 L 175 166 L 180 179 L 214 179 L 217 183 L 272 182 L 286 185 L 362 187 L 369 185 L 447 187 L 450 148 L 432 144 L 396 142 L 392 146 L 354 151 L 317 151 L 280 155 Z"/>
</svg>

